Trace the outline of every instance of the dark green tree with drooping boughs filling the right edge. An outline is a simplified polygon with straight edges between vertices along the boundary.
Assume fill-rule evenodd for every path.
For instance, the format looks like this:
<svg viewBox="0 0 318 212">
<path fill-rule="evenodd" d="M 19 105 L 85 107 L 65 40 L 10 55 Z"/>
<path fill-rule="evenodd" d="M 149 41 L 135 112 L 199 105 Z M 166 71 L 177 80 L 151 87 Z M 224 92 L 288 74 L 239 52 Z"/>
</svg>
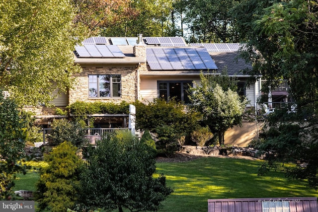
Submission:
<svg viewBox="0 0 318 212">
<path fill-rule="evenodd" d="M 247 41 L 242 57 L 253 63 L 247 73 L 289 79 L 297 102 L 296 113 L 282 110 L 269 116 L 270 129 L 261 145 L 268 159 L 264 167 L 305 160 L 307 167 L 288 173 L 318 188 L 318 1 L 244 0 L 236 11 L 240 34 Z"/>
</svg>

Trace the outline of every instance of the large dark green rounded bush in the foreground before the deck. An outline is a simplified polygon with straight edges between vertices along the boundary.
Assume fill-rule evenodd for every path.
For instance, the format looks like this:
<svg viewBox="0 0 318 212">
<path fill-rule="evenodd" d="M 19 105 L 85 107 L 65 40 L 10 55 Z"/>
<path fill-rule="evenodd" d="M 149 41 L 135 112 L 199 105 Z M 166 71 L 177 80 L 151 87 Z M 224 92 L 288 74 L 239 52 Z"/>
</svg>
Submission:
<svg viewBox="0 0 318 212">
<path fill-rule="evenodd" d="M 129 131 L 97 143 L 81 175 L 82 204 L 91 209 L 157 211 L 172 190 L 165 177 L 153 178 L 156 159 L 150 146 Z"/>
</svg>

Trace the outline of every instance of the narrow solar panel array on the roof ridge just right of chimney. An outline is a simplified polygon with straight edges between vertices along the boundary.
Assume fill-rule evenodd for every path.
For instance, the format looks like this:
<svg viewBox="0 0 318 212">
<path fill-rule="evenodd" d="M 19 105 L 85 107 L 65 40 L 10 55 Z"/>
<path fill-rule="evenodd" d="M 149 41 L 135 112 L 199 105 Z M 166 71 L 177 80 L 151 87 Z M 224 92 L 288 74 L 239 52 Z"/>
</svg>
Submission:
<svg viewBox="0 0 318 212">
<path fill-rule="evenodd" d="M 148 45 L 160 45 L 166 47 L 172 46 L 187 46 L 181 37 L 145 37 L 145 43 Z"/>
</svg>

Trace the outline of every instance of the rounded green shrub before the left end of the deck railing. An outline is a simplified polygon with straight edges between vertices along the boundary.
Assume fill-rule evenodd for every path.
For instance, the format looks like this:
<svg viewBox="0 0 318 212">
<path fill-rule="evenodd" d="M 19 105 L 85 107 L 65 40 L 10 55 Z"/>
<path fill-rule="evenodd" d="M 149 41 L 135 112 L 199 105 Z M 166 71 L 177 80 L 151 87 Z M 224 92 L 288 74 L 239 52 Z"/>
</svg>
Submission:
<svg viewBox="0 0 318 212">
<path fill-rule="evenodd" d="M 85 135 L 86 130 L 79 123 L 69 122 L 67 119 L 55 119 L 52 123 L 52 132 L 47 138 L 51 145 L 70 141 L 73 145 L 81 147 L 88 142 Z"/>
</svg>

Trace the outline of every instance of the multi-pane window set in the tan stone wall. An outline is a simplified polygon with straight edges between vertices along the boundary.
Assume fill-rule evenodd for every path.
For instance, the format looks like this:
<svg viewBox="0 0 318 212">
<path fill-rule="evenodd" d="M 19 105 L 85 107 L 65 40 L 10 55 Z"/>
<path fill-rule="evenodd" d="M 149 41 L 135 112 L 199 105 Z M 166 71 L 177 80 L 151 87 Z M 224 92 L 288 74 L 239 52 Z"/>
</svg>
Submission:
<svg viewBox="0 0 318 212">
<path fill-rule="evenodd" d="M 88 97 L 121 97 L 120 75 L 88 75 Z"/>
</svg>

